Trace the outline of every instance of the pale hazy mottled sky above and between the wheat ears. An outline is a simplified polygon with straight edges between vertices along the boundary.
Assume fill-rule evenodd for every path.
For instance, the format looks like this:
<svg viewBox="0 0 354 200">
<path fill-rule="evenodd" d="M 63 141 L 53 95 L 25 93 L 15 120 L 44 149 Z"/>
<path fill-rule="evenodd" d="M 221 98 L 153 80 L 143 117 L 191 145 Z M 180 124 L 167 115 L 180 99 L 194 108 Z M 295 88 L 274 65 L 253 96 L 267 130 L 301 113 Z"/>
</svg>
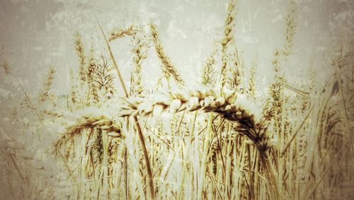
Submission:
<svg viewBox="0 0 354 200">
<path fill-rule="evenodd" d="M 94 10 L 106 34 L 113 28 L 126 27 L 131 23 L 156 23 L 166 54 L 181 72 L 186 85 L 195 86 L 200 82 L 202 64 L 210 56 L 213 42 L 222 36 L 227 3 L 199 0 L 1 0 L 0 45 L 4 47 L 1 64 L 8 64 L 11 77 L 23 84 L 30 97 L 37 95 L 49 67 L 54 66 L 57 73 L 52 87 L 58 95 L 67 93 L 70 88 L 69 70 L 76 70 L 79 64 L 74 50 L 74 34 L 83 36 L 86 52 L 91 44 L 102 52 L 106 51 L 93 15 Z M 291 77 L 288 80 L 290 84 L 299 87 L 312 58 L 317 81 L 323 83 L 333 70 L 324 64 L 328 63 L 329 54 L 338 47 L 338 42 L 348 40 L 348 35 L 353 35 L 354 1 L 299 0 L 297 4 L 295 47 L 287 62 L 290 65 L 284 66 L 285 73 Z M 237 6 L 235 40 L 244 57 L 246 69 L 254 59 L 258 61 L 258 90 L 263 90 L 273 78 L 272 54 L 275 48 L 281 48 L 285 40 L 284 18 L 289 6 L 290 1 L 282 0 L 239 1 Z M 112 47 L 129 85 L 132 71 L 130 40 L 116 40 L 112 42 Z M 19 131 L 11 127 L 10 122 L 13 108 L 18 107 L 25 97 L 16 81 L 9 81 L 6 78 L 8 75 L 0 70 L 1 130 L 8 136 L 25 140 L 23 135 L 30 134 L 31 129 Z M 149 59 L 143 62 L 142 73 L 143 83 L 151 90 L 161 73 L 153 48 L 150 49 Z M 120 88 L 119 83 L 117 88 Z M 37 121 L 34 115 L 33 119 L 21 120 L 24 123 Z M 0 139 L 4 139 L 3 135 Z M 40 148 L 25 150 L 34 155 L 45 151 Z M 48 169 L 53 164 L 41 165 L 45 165 L 50 173 Z"/>
</svg>

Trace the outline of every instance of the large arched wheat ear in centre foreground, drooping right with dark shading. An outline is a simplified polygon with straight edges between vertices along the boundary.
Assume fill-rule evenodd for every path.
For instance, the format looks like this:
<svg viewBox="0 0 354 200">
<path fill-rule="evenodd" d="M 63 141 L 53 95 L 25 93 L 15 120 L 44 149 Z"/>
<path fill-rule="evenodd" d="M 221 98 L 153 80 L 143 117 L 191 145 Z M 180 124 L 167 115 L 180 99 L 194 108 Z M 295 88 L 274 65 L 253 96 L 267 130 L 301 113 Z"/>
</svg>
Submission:
<svg viewBox="0 0 354 200">
<path fill-rule="evenodd" d="M 260 162 L 265 177 L 268 178 L 268 187 L 273 191 L 273 197 L 278 198 L 278 186 L 273 165 L 266 152 L 272 145 L 267 134 L 265 120 L 259 119 L 257 112 L 260 108 L 246 107 L 249 102 L 245 95 L 232 90 L 176 90 L 173 93 L 154 94 L 148 98 L 128 98 L 127 106 L 122 107 L 120 116 L 136 117 L 157 116 L 162 112 L 176 113 L 183 110 L 216 112 L 227 119 L 235 131 L 249 139 L 248 143 L 256 146 L 260 152 Z"/>
</svg>

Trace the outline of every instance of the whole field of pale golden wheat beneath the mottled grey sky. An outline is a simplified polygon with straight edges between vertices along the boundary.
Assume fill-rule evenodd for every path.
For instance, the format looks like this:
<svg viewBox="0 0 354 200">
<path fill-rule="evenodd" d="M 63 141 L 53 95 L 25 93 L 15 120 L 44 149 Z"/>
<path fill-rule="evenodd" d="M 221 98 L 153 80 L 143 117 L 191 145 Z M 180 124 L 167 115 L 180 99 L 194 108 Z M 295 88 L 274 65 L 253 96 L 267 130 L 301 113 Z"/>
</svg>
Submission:
<svg viewBox="0 0 354 200">
<path fill-rule="evenodd" d="M 249 59 L 246 8 L 225 1 L 198 71 L 178 65 L 156 21 L 108 29 L 95 7 L 95 39 L 71 33 L 72 66 L 47 67 L 38 88 L 4 47 L 1 88 L 20 98 L 1 90 L 1 199 L 354 198 L 354 38 L 302 57 L 299 4 L 284 4 L 276 47 Z"/>
</svg>

